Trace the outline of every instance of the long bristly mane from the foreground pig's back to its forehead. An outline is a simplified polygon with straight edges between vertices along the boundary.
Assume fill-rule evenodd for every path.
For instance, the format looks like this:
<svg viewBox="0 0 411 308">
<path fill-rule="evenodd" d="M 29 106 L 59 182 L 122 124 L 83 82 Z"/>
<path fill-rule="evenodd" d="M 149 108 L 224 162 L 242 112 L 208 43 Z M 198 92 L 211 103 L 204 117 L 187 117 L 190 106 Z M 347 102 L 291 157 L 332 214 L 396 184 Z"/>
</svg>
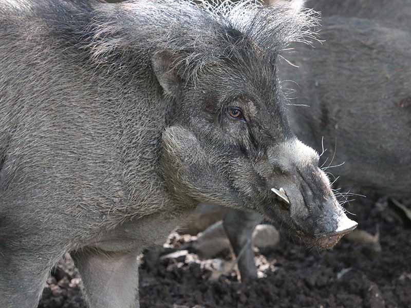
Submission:
<svg viewBox="0 0 411 308">
<path fill-rule="evenodd" d="M 195 81 L 210 64 L 221 67 L 227 61 L 244 69 L 257 60 L 263 66 L 271 64 L 263 69 L 273 72 L 288 44 L 315 40 L 317 14 L 278 3 L 267 7 L 258 0 L 138 0 L 116 5 L 100 0 L 7 0 L 0 4 L 0 19 L 5 27 L 16 21 L 26 24 L 16 31 L 35 27 L 36 35 L 23 34 L 39 44 L 47 42 L 48 49 L 62 50 L 63 45 L 68 55 L 80 52 L 96 67 L 108 66 L 110 72 L 135 78 L 152 75 L 153 54 L 167 50 L 174 55 L 177 71 Z M 33 17 L 37 21 L 31 22 Z M 43 40 L 45 36 L 51 39 Z"/>
</svg>

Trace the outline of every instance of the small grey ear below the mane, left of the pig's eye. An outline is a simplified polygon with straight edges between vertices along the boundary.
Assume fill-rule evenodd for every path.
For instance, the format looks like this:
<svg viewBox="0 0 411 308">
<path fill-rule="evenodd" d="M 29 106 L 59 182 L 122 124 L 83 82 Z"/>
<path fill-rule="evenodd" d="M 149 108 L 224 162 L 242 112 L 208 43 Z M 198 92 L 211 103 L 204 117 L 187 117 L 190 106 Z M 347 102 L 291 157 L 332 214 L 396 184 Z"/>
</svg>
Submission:
<svg viewBox="0 0 411 308">
<path fill-rule="evenodd" d="M 153 55 L 151 61 L 157 80 L 167 95 L 176 97 L 181 84 L 174 61 L 176 57 L 169 51 L 160 51 Z"/>
</svg>

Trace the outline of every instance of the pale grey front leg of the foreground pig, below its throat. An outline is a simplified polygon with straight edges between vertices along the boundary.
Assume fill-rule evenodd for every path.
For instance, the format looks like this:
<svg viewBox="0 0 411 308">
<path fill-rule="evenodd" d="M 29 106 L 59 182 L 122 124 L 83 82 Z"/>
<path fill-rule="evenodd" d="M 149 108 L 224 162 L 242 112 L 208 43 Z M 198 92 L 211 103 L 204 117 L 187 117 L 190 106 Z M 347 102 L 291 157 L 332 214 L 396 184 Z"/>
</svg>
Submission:
<svg viewBox="0 0 411 308">
<path fill-rule="evenodd" d="M 138 252 L 78 251 L 71 256 L 90 308 L 138 308 Z"/>
</svg>

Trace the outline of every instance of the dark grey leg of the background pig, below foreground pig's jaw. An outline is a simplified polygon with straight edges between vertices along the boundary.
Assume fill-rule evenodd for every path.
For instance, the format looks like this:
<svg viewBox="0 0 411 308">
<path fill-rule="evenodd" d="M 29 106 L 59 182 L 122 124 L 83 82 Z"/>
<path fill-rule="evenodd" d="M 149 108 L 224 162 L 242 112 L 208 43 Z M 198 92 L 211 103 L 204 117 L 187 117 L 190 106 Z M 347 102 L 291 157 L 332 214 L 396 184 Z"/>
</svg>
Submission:
<svg viewBox="0 0 411 308">
<path fill-rule="evenodd" d="M 238 257 L 238 269 L 241 280 L 257 278 L 257 267 L 254 262 L 252 234 L 255 226 L 262 220 L 257 213 L 230 210 L 223 219 L 227 236 Z M 242 250 L 244 248 L 244 251 Z"/>
</svg>

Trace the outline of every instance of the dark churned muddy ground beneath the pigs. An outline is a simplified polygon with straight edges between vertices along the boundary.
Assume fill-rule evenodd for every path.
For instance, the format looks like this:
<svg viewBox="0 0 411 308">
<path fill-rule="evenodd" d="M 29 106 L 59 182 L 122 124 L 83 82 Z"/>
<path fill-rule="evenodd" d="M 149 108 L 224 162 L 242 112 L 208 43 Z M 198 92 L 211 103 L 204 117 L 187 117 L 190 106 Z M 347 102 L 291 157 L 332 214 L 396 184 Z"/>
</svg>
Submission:
<svg viewBox="0 0 411 308">
<path fill-rule="evenodd" d="M 409 201 L 402 204 L 411 208 Z M 345 239 L 319 252 L 283 237 L 271 251 L 256 251 L 264 278 L 249 283 L 238 282 L 235 268 L 211 279 L 219 273 L 214 268 L 230 261 L 230 252 L 201 261 L 183 251 L 175 258 L 151 260 L 154 270 L 143 256 L 141 307 L 411 307 L 411 228 L 406 215 L 386 198 L 359 198 L 347 208 L 368 233 L 379 229 L 381 252 L 376 245 Z M 174 234 L 169 244 L 179 247 L 192 239 Z M 48 279 L 39 308 L 85 308 L 80 283 L 67 258 Z"/>
</svg>

